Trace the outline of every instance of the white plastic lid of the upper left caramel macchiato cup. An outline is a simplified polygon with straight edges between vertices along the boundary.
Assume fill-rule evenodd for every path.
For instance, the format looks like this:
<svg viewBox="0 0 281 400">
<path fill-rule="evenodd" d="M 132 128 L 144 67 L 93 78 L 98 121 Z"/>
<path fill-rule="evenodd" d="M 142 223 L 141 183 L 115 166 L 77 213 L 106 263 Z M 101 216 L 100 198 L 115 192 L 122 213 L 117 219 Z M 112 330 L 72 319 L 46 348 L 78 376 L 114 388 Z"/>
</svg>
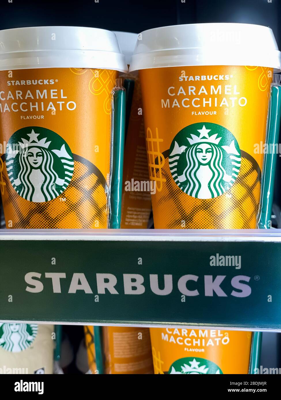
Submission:
<svg viewBox="0 0 281 400">
<path fill-rule="evenodd" d="M 113 32 L 79 26 L 0 31 L 0 70 L 100 68 L 127 71 Z"/>
</svg>

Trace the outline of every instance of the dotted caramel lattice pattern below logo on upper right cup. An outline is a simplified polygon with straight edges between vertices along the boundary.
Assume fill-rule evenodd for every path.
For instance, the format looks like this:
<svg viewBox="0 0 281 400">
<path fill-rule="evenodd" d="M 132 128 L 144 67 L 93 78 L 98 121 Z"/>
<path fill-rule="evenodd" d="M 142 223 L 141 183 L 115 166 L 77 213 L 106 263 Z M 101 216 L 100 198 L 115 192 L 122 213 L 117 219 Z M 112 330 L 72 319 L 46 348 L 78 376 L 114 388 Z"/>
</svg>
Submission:
<svg viewBox="0 0 281 400">
<path fill-rule="evenodd" d="M 211 199 L 198 199 L 183 193 L 170 173 L 168 151 L 164 152 L 164 157 L 162 177 L 166 182 L 152 200 L 155 228 L 256 228 L 261 171 L 253 157 L 241 151 L 241 168 L 235 183 L 226 193 Z"/>
</svg>

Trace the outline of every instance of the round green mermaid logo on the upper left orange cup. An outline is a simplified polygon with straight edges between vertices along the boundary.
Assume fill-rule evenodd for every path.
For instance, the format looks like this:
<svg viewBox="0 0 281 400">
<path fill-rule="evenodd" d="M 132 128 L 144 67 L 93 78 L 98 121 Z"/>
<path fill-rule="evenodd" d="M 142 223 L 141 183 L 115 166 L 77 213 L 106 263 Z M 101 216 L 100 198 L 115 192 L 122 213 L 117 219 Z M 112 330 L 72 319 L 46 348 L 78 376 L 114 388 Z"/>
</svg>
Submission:
<svg viewBox="0 0 281 400">
<path fill-rule="evenodd" d="M 25 200 L 42 203 L 65 191 L 74 160 L 68 144 L 52 130 L 29 126 L 17 130 L 6 146 L 10 182 Z"/>
</svg>

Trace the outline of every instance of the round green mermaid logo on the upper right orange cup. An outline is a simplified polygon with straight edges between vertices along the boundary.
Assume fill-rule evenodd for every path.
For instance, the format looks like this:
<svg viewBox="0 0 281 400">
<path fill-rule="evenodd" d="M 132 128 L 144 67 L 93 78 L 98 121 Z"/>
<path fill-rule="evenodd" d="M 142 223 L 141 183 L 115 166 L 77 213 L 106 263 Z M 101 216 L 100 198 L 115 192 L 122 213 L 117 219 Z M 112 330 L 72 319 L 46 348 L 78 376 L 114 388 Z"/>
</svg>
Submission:
<svg viewBox="0 0 281 400">
<path fill-rule="evenodd" d="M 235 182 L 241 165 L 239 144 L 218 124 L 188 125 L 172 141 L 170 172 L 180 190 L 208 199 L 221 196 Z"/>
</svg>

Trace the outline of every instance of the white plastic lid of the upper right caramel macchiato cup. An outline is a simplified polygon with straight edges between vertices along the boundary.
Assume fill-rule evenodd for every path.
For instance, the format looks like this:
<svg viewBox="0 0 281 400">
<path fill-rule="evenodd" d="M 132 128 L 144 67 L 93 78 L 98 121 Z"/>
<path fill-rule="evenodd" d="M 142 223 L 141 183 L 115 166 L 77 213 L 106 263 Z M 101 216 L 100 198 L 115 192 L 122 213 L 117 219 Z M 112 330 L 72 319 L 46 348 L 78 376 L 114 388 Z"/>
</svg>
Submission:
<svg viewBox="0 0 281 400">
<path fill-rule="evenodd" d="M 196 65 L 281 68 L 270 28 L 251 24 L 164 26 L 139 34 L 130 71 Z"/>
</svg>

